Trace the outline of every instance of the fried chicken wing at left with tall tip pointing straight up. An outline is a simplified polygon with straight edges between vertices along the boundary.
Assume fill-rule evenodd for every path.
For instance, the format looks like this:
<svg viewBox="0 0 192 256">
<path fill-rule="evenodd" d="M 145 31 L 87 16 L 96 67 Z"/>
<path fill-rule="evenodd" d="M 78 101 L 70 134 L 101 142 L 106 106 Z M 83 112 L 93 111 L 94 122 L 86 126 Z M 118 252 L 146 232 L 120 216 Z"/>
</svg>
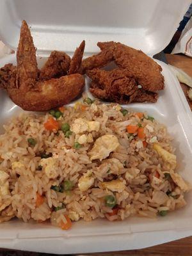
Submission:
<svg viewBox="0 0 192 256">
<path fill-rule="evenodd" d="M 17 49 L 17 71 L 4 88 L 10 98 L 24 110 L 46 111 L 67 104 L 83 90 L 81 74 L 62 76 L 58 79 L 38 81 L 38 68 L 33 38 L 26 21 L 20 29 Z"/>
</svg>

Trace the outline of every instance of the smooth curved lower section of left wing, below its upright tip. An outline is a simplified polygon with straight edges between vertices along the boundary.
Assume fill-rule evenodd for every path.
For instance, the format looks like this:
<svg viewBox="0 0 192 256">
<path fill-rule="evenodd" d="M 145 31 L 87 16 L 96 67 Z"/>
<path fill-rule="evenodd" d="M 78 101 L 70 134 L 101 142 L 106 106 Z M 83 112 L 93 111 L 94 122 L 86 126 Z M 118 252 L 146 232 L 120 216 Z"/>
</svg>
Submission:
<svg viewBox="0 0 192 256">
<path fill-rule="evenodd" d="M 8 87 L 10 98 L 28 111 L 47 111 L 69 103 L 75 99 L 84 87 L 84 77 L 80 74 L 63 76 L 44 82 L 36 82 L 31 90 Z"/>
</svg>

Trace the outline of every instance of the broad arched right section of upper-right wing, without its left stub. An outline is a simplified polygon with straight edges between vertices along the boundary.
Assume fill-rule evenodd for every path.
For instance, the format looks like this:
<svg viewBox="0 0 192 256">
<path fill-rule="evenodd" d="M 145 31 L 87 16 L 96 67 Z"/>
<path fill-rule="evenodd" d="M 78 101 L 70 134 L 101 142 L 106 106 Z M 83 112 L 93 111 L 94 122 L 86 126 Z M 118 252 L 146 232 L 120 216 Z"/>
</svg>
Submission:
<svg viewBox="0 0 192 256">
<path fill-rule="evenodd" d="M 157 92 L 164 88 L 164 77 L 161 66 L 144 52 L 116 42 L 99 42 L 102 51 L 111 49 L 116 65 L 127 68 L 144 90 Z"/>
</svg>

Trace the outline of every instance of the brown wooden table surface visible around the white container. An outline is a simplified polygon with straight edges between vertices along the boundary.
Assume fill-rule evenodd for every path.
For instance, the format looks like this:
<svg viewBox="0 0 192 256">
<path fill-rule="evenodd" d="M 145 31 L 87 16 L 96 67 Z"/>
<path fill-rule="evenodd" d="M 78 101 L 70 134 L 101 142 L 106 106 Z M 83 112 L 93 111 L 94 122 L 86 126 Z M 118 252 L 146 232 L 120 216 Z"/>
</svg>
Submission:
<svg viewBox="0 0 192 256">
<path fill-rule="evenodd" d="M 166 60 L 169 64 L 181 68 L 186 72 L 189 76 L 192 77 L 192 58 L 187 56 L 180 55 L 171 55 L 166 54 Z M 192 110 L 192 101 L 190 101 L 187 97 L 188 86 L 185 84 L 180 84 L 182 86 L 182 90 L 186 95 L 186 99 L 189 102 L 189 106 Z M 3 254 L 1 254 L 1 252 Z M 10 251 L 10 250 L 0 250 L 0 255 L 13 255 L 13 256 L 44 256 L 48 255 L 47 253 L 30 253 L 30 252 L 19 252 L 19 251 Z M 184 239 L 179 239 L 177 241 L 173 241 L 166 244 L 160 244 L 157 246 L 152 246 L 150 248 L 145 248 L 141 250 L 131 250 L 131 251 L 121 251 L 121 252 L 107 252 L 107 253 L 88 253 L 86 255 L 93 256 L 119 256 L 119 255 L 131 255 L 131 256 L 140 256 L 140 255 L 150 255 L 150 256 L 160 256 L 160 255 L 168 255 L 168 256 L 190 256 L 192 255 L 192 236 L 186 237 Z"/>
</svg>

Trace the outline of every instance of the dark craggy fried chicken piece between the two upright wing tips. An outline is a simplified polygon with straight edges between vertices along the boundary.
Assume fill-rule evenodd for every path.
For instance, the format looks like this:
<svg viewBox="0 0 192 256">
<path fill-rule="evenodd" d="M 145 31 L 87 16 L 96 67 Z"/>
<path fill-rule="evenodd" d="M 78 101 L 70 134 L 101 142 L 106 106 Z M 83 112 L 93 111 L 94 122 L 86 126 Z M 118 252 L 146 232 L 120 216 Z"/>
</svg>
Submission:
<svg viewBox="0 0 192 256">
<path fill-rule="evenodd" d="M 39 79 L 48 80 L 51 78 L 58 78 L 67 75 L 70 67 L 70 56 L 65 52 L 53 51 L 51 52 L 44 67 L 40 70 Z"/>
</svg>

